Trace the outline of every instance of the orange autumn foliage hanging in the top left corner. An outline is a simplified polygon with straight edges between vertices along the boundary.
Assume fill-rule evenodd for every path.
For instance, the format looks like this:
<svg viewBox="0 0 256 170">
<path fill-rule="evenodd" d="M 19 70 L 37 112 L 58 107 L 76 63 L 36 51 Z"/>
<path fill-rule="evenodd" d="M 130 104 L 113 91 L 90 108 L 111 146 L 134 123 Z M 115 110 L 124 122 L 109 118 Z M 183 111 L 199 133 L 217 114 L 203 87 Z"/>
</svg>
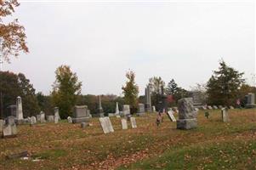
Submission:
<svg viewBox="0 0 256 170">
<path fill-rule="evenodd" d="M 0 2 L 0 50 L 3 53 L 3 59 L 7 61 L 11 55 L 18 56 L 20 51 L 28 53 L 24 26 L 19 24 L 18 19 L 9 23 L 3 22 L 3 18 L 12 15 L 14 8 L 19 5 L 17 0 L 2 0 Z"/>
</svg>

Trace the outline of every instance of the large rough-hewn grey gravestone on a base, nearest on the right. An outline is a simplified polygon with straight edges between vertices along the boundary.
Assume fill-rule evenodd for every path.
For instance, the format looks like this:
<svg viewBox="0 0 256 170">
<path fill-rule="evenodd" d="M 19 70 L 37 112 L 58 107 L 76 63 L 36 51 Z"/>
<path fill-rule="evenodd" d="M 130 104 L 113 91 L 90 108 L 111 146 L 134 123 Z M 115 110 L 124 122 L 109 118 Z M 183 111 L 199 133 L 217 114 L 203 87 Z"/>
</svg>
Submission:
<svg viewBox="0 0 256 170">
<path fill-rule="evenodd" d="M 179 99 L 179 120 L 177 121 L 178 129 L 191 129 L 197 127 L 197 112 L 193 106 L 192 98 Z"/>
</svg>

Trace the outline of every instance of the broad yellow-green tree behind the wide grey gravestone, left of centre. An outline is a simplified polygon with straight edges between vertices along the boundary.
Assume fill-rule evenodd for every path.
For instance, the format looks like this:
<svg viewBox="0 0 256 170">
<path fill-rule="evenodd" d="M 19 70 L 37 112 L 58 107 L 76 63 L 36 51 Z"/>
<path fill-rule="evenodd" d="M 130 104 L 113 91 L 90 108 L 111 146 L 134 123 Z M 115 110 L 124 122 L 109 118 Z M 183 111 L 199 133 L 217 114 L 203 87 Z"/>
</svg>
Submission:
<svg viewBox="0 0 256 170">
<path fill-rule="evenodd" d="M 55 106 L 59 107 L 60 116 L 66 118 L 71 116 L 77 95 L 81 94 L 82 82 L 78 81 L 77 74 L 73 73 L 68 65 L 60 65 L 55 71 L 55 75 L 53 102 Z"/>
</svg>

